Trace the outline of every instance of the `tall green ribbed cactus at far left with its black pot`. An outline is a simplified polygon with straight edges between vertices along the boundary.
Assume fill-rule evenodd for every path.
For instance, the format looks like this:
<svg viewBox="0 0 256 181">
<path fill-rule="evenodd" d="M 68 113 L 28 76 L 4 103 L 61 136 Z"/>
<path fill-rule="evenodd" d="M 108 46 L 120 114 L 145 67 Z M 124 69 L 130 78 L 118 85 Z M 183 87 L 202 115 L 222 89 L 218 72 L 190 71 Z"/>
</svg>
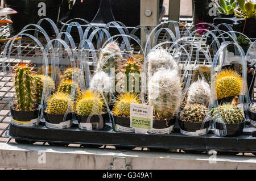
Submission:
<svg viewBox="0 0 256 181">
<path fill-rule="evenodd" d="M 18 125 L 37 125 L 39 109 L 38 104 L 33 103 L 31 64 L 19 63 L 15 68 L 14 79 L 17 101 L 10 108 L 13 121 Z"/>
</svg>

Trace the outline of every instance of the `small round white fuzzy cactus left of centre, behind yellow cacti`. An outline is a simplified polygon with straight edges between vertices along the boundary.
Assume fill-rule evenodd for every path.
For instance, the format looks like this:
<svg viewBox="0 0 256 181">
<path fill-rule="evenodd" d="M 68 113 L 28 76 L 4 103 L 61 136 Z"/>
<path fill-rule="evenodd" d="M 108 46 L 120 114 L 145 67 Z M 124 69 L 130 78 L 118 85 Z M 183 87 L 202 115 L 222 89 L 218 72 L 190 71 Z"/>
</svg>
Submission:
<svg viewBox="0 0 256 181">
<path fill-rule="evenodd" d="M 90 90 L 98 92 L 110 91 L 110 77 L 104 71 L 98 71 L 90 81 Z"/>
</svg>

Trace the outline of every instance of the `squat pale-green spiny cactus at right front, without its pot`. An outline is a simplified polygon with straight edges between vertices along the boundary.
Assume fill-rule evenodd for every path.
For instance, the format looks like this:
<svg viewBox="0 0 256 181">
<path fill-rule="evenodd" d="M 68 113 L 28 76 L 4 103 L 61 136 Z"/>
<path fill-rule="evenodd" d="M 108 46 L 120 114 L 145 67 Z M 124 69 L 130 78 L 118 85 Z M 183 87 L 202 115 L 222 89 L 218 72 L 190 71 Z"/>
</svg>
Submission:
<svg viewBox="0 0 256 181">
<path fill-rule="evenodd" d="M 239 107 L 233 106 L 232 104 L 222 104 L 218 108 L 212 110 L 213 119 L 216 120 L 218 117 L 218 111 L 220 111 L 220 116 L 225 124 L 236 124 L 242 123 L 243 121 L 243 110 Z"/>
</svg>

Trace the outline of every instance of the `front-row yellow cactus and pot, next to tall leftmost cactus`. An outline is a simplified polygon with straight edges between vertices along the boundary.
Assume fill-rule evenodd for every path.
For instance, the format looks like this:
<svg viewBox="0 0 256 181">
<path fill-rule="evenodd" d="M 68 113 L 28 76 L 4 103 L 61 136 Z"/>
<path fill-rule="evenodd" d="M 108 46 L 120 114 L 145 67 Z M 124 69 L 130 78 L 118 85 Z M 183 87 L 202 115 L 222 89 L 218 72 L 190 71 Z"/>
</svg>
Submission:
<svg viewBox="0 0 256 181">
<path fill-rule="evenodd" d="M 70 111 L 68 112 L 67 116 L 65 116 L 68 107 Z M 56 129 L 71 127 L 72 110 L 73 100 L 71 100 L 69 94 L 64 92 L 56 92 L 55 94 L 51 95 L 47 101 L 46 110 L 44 110 L 46 126 L 48 128 Z"/>
</svg>

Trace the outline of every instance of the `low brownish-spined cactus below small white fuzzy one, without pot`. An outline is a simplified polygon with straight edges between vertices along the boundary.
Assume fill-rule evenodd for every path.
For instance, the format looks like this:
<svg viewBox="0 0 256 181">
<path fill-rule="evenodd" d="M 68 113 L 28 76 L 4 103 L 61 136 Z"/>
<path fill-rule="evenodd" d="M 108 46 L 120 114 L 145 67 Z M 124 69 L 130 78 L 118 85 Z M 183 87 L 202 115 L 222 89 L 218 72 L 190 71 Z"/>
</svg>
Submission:
<svg viewBox="0 0 256 181">
<path fill-rule="evenodd" d="M 207 113 L 208 108 L 202 104 L 187 104 L 180 113 L 180 120 L 191 123 L 202 123 Z"/>
</svg>

